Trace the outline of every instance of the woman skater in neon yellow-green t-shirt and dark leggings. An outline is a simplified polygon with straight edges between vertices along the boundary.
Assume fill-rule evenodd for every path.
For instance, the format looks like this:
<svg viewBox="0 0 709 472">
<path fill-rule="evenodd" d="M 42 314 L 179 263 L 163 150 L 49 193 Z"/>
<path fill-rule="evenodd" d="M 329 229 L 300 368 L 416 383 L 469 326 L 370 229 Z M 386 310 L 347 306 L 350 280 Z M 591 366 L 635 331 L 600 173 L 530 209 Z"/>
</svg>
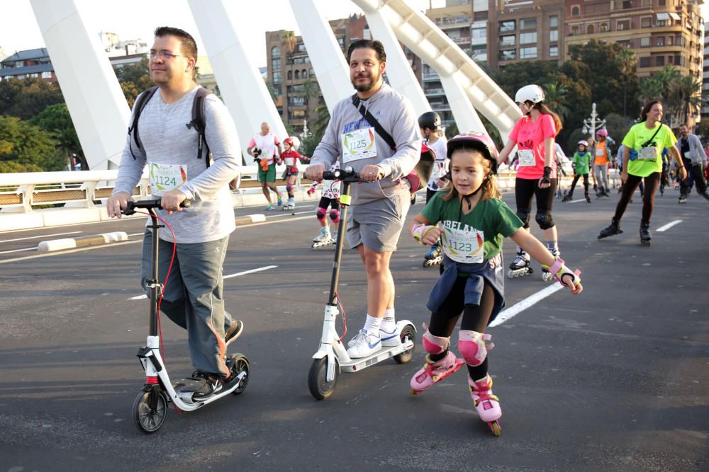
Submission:
<svg viewBox="0 0 709 472">
<path fill-rule="evenodd" d="M 598 239 L 607 238 L 614 234 L 623 233 L 620 229 L 620 219 L 625 213 L 625 207 L 635 189 L 644 180 L 645 188 L 642 192 L 642 219 L 640 220 L 640 243 L 649 246 L 650 217 L 655 201 L 655 191 L 660 182 L 662 172 L 662 149 L 669 149 L 670 154 L 677 163 L 682 180 L 687 176 L 682 157 L 676 146 L 676 137 L 667 125 L 661 123 L 664 110 L 659 100 L 647 103 L 640 112 L 640 122 L 630 128 L 623 138 L 623 171 L 620 180 L 623 182 L 623 193 L 615 207 L 615 214 L 610 225 L 598 234 Z"/>
</svg>

